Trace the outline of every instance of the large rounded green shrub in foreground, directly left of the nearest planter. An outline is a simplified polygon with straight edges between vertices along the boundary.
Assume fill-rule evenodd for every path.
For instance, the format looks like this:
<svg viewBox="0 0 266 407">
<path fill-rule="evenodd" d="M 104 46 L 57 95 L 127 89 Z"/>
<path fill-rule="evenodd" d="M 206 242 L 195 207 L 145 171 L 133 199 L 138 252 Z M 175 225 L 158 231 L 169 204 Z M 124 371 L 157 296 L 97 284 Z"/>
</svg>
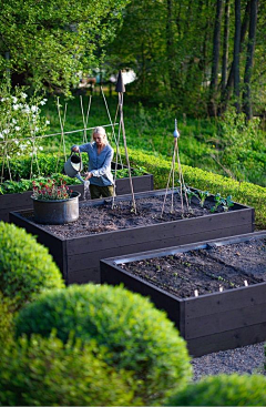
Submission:
<svg viewBox="0 0 266 407">
<path fill-rule="evenodd" d="M 161 403 L 174 385 L 183 386 L 192 368 L 186 344 L 165 314 L 139 294 L 108 285 L 70 286 L 41 295 L 20 313 L 17 336 L 48 337 L 53 328 L 66 343 L 70 333 L 95 339 L 109 350 L 105 362 L 134 372 L 137 395 Z"/>
</svg>

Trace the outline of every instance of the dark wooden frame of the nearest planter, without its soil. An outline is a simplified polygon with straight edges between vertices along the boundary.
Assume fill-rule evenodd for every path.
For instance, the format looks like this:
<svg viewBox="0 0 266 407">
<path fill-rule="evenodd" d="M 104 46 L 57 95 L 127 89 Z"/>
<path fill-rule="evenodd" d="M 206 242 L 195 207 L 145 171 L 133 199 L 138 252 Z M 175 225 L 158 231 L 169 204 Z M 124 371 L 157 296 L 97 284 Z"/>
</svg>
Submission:
<svg viewBox="0 0 266 407">
<path fill-rule="evenodd" d="M 164 309 L 187 342 L 192 356 L 233 349 L 266 339 L 266 283 L 227 289 L 198 297 L 178 298 L 120 267 L 121 263 L 173 255 L 176 252 L 204 248 L 206 244 L 231 244 L 250 237 L 266 237 L 266 231 L 201 244 L 171 247 L 101 261 L 101 283 L 123 284 L 129 289 L 149 296 Z"/>
</svg>

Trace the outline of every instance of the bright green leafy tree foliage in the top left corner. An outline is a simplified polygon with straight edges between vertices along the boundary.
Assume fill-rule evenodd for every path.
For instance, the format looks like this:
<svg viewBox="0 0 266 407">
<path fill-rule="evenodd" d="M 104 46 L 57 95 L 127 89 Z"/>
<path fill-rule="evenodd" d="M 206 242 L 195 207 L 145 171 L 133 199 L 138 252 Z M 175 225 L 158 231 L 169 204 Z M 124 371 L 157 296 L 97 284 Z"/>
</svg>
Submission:
<svg viewBox="0 0 266 407">
<path fill-rule="evenodd" d="M 113 38 L 126 3 L 2 0 L 0 72 L 8 70 L 14 81 L 66 92 L 79 72 L 99 62 L 98 49 Z"/>
</svg>

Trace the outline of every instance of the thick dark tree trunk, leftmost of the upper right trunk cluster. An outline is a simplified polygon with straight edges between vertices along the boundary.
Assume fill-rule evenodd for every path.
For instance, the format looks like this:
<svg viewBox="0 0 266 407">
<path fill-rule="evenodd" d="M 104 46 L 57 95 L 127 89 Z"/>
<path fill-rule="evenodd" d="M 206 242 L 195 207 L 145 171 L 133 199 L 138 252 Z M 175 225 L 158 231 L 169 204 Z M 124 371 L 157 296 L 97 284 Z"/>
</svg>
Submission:
<svg viewBox="0 0 266 407">
<path fill-rule="evenodd" d="M 212 77 L 209 84 L 209 104 L 208 104 L 209 115 L 216 115 L 222 12 L 223 12 L 223 0 L 216 0 L 216 17 L 215 17 L 214 37 L 213 37 L 213 63 L 212 63 Z"/>
</svg>

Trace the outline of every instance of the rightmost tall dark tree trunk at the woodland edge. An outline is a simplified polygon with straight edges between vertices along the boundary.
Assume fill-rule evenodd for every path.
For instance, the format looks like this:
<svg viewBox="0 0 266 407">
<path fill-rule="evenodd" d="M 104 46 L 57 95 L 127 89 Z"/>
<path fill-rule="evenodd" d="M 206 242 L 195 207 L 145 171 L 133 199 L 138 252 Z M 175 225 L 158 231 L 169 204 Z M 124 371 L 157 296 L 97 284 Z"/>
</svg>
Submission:
<svg viewBox="0 0 266 407">
<path fill-rule="evenodd" d="M 247 43 L 247 57 L 246 57 L 246 67 L 245 67 L 245 74 L 244 74 L 244 92 L 243 92 L 244 112 L 246 113 L 247 120 L 250 120 L 253 116 L 250 82 L 252 82 L 252 69 L 253 69 L 253 60 L 254 60 L 254 51 L 255 51 L 257 7 L 258 7 L 258 0 L 252 0 L 248 43 Z"/>
</svg>

